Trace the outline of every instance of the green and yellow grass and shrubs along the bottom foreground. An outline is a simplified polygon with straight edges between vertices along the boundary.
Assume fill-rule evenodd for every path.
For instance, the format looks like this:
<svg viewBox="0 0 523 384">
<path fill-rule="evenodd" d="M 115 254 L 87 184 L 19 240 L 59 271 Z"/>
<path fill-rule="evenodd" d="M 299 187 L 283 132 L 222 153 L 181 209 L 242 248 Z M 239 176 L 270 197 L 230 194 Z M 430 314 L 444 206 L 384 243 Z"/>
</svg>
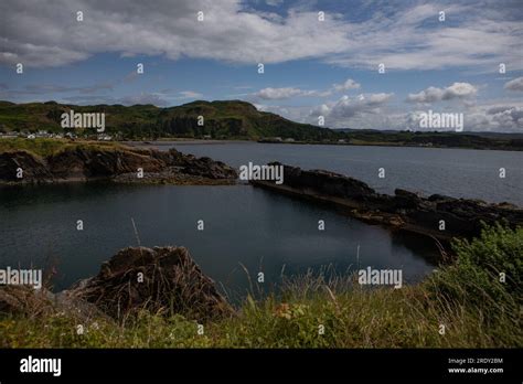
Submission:
<svg viewBox="0 0 523 384">
<path fill-rule="evenodd" d="M 84 334 L 71 313 L 11 316 L 0 320 L 0 346 L 521 348 L 523 227 L 484 228 L 472 242 L 456 241 L 453 253 L 452 264 L 396 290 L 342 277 L 285 280 L 282 295 L 256 300 L 253 292 L 234 317 L 203 324 L 203 334 L 194 321 L 160 313 L 118 324 L 94 319 Z"/>
</svg>

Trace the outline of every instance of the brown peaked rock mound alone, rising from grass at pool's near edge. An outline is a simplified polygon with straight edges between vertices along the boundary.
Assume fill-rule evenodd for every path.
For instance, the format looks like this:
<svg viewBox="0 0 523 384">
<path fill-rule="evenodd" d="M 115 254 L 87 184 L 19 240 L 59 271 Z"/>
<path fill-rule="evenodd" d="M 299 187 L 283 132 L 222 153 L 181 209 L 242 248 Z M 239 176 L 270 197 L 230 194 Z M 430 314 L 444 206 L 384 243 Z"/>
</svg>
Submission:
<svg viewBox="0 0 523 384">
<path fill-rule="evenodd" d="M 126 248 L 103 264 L 97 276 L 67 291 L 119 319 L 147 309 L 204 320 L 231 307 L 184 247 Z"/>
</svg>

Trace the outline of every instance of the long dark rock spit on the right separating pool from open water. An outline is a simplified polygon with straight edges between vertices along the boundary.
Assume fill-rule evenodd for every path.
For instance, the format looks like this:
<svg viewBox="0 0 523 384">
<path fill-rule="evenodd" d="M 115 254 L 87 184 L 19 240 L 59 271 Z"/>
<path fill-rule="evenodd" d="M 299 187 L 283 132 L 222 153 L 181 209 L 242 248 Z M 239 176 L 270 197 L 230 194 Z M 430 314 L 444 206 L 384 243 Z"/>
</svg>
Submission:
<svg viewBox="0 0 523 384">
<path fill-rule="evenodd" d="M 480 200 L 439 194 L 423 198 L 401 189 L 395 190 L 394 195 L 380 194 L 362 181 L 321 170 L 305 171 L 284 166 L 282 185 L 270 181 L 252 183 L 333 204 L 365 222 L 423 233 L 444 241 L 455 236 L 477 236 L 482 223 L 491 225 L 505 221 L 512 226 L 523 225 L 523 210 L 513 204 L 489 204 Z"/>
</svg>

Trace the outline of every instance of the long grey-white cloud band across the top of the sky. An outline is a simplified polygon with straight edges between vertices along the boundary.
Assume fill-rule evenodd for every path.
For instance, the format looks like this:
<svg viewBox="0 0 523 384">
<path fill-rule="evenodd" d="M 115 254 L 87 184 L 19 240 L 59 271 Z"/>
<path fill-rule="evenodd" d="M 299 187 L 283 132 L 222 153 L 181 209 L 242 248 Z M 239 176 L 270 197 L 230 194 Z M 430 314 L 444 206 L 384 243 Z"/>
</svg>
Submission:
<svg viewBox="0 0 523 384">
<path fill-rule="evenodd" d="M 308 7 L 280 15 L 255 12 L 241 0 L 158 0 L 153 7 L 141 0 L 3 0 L 0 63 L 60 66 L 113 52 L 247 65 L 320 58 L 373 70 L 384 63 L 387 71 L 485 70 L 505 62 L 517 71 L 523 68 L 523 30 L 521 21 L 510 18 L 509 6 L 448 4 L 445 10 L 455 22 L 426 28 L 437 20 L 439 6 L 397 4 L 387 13 L 376 7 L 359 21 L 325 12 L 319 22 Z M 82 22 L 76 21 L 78 10 Z M 199 11 L 203 22 L 196 21 Z"/>
</svg>

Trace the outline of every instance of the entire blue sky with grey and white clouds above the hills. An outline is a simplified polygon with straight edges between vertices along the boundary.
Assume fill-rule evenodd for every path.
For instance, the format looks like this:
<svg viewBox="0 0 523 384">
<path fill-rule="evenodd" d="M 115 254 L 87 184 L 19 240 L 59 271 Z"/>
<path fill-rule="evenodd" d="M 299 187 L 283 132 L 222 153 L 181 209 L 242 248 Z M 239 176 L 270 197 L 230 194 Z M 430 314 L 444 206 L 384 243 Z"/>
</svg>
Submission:
<svg viewBox="0 0 523 384">
<path fill-rule="evenodd" d="M 243 99 L 376 129 L 430 109 L 523 132 L 523 1 L 2 0 L 0 99 Z"/>
</svg>

